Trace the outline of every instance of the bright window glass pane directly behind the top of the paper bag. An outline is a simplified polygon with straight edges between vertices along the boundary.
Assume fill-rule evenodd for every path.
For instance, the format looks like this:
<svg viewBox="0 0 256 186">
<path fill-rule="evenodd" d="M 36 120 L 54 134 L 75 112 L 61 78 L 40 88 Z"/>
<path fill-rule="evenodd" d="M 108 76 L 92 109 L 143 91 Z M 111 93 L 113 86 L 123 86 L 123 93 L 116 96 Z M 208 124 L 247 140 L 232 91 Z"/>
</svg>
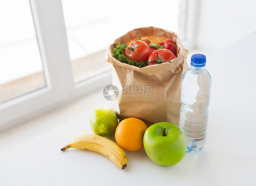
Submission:
<svg viewBox="0 0 256 186">
<path fill-rule="evenodd" d="M 128 31 L 145 26 L 178 30 L 176 0 L 163 0 L 157 8 L 145 1 L 100 0 L 62 0 L 62 6 L 74 82 L 109 70 L 104 53 L 113 40 Z"/>
</svg>

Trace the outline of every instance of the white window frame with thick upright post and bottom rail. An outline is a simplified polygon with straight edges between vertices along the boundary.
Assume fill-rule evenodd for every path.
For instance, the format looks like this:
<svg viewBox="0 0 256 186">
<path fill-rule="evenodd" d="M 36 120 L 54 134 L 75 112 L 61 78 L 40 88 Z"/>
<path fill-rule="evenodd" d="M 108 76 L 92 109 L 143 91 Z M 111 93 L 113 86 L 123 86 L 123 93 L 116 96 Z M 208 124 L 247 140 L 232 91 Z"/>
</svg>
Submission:
<svg viewBox="0 0 256 186">
<path fill-rule="evenodd" d="M 186 4 L 184 46 L 193 48 L 196 36 L 198 0 Z M 68 102 L 112 83 L 110 71 L 73 83 L 71 61 L 61 0 L 29 0 L 38 39 L 46 87 L 0 104 L 0 131 L 54 110 Z M 54 11 L 53 11 L 54 10 Z M 47 13 L 46 13 L 47 12 Z M 182 12 L 184 13 L 184 12 Z M 61 68 L 60 68 L 61 67 Z"/>
</svg>

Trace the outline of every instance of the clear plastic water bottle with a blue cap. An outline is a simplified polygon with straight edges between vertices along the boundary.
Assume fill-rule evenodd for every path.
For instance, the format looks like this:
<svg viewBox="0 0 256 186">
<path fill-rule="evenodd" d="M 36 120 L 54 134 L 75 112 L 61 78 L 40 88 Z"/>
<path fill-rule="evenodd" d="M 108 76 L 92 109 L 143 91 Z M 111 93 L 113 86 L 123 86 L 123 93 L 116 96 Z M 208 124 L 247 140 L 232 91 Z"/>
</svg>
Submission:
<svg viewBox="0 0 256 186">
<path fill-rule="evenodd" d="M 205 55 L 194 54 L 191 67 L 182 76 L 179 127 L 187 139 L 187 152 L 200 152 L 205 145 L 212 85 L 205 65 Z"/>
</svg>

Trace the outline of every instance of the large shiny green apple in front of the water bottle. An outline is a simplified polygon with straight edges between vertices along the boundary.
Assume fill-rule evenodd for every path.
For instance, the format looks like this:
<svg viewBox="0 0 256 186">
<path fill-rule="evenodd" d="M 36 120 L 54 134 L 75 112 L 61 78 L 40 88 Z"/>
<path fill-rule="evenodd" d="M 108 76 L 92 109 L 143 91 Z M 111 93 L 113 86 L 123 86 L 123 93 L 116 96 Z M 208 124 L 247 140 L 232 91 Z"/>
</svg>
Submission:
<svg viewBox="0 0 256 186">
<path fill-rule="evenodd" d="M 174 165 L 185 156 L 187 143 L 182 130 L 168 122 L 151 125 L 143 137 L 149 158 L 158 165 Z"/>
</svg>

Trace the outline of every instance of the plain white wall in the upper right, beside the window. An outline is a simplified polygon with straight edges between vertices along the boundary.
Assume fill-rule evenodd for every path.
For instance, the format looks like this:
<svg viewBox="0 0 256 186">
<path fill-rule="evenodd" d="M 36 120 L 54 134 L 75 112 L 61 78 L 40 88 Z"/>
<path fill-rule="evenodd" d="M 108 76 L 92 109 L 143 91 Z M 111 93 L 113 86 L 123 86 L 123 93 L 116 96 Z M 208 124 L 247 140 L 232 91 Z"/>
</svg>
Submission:
<svg viewBox="0 0 256 186">
<path fill-rule="evenodd" d="M 196 47 L 221 49 L 256 31 L 256 1 L 199 1 Z"/>
</svg>

